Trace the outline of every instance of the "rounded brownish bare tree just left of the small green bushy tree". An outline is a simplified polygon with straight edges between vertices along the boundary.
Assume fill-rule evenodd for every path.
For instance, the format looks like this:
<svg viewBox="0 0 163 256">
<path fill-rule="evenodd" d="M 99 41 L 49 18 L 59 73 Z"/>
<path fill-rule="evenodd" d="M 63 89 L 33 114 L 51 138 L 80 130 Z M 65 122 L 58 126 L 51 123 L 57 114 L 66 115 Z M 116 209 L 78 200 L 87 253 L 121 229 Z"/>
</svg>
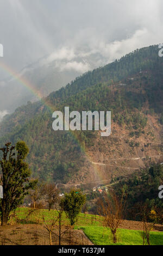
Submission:
<svg viewBox="0 0 163 256">
<path fill-rule="evenodd" d="M 48 209 L 50 211 L 52 206 L 56 204 L 59 199 L 59 190 L 55 184 L 47 183 L 43 186 L 43 198 L 48 204 Z"/>
</svg>

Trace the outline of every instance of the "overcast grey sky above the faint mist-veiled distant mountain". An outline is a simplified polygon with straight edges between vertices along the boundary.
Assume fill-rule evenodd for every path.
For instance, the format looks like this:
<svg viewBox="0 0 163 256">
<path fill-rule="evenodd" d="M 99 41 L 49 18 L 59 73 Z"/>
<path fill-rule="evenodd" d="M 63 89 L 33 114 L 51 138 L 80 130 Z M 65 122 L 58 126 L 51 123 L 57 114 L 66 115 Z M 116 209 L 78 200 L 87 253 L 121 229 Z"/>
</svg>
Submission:
<svg viewBox="0 0 163 256">
<path fill-rule="evenodd" d="M 4 62 L 15 70 L 48 59 L 101 53 L 108 63 L 163 42 L 162 0 L 0 0 Z M 0 65 L 1 79 L 7 74 Z"/>
</svg>

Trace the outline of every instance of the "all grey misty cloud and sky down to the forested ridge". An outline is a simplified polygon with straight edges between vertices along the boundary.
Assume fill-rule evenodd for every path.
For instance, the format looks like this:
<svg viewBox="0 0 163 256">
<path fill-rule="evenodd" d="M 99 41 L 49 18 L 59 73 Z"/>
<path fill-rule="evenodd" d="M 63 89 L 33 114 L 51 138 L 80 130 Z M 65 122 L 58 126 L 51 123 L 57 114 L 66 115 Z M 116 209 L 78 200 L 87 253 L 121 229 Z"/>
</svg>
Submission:
<svg viewBox="0 0 163 256">
<path fill-rule="evenodd" d="M 3 64 L 33 87 L 45 81 L 49 93 L 136 48 L 163 42 L 162 9 L 162 0 L 1 0 L 1 115 L 6 102 L 10 110 L 32 100 Z"/>
</svg>

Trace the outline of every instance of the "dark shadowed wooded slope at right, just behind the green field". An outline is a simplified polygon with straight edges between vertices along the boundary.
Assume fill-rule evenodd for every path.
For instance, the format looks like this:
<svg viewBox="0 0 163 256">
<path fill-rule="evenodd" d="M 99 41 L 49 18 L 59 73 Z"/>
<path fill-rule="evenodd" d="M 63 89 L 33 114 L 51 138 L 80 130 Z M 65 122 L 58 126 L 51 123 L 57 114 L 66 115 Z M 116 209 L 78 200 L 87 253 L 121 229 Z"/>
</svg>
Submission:
<svg viewBox="0 0 163 256">
<path fill-rule="evenodd" d="M 126 218 L 141 221 L 143 204 L 148 205 L 149 209 L 154 207 L 160 211 L 160 223 L 163 223 L 162 209 L 163 202 L 158 197 L 158 187 L 163 181 L 162 164 L 152 164 L 150 168 L 142 171 L 141 175 L 131 175 L 129 179 L 120 180 L 114 184 L 117 193 L 124 192 L 127 197 Z M 125 198 L 124 198 L 125 200 Z"/>
</svg>

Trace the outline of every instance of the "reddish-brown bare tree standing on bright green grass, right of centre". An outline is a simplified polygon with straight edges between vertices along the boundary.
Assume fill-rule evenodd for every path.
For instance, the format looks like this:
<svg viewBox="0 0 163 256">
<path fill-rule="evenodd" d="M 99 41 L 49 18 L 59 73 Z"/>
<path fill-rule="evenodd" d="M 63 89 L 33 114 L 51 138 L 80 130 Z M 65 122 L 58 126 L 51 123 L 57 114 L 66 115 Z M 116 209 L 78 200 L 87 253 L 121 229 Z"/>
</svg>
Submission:
<svg viewBox="0 0 163 256">
<path fill-rule="evenodd" d="M 104 202 L 99 202 L 98 212 L 103 216 L 103 225 L 110 228 L 113 242 L 117 242 L 117 229 L 122 222 L 124 210 L 123 197 L 118 198 L 113 192 L 105 196 Z"/>
</svg>

